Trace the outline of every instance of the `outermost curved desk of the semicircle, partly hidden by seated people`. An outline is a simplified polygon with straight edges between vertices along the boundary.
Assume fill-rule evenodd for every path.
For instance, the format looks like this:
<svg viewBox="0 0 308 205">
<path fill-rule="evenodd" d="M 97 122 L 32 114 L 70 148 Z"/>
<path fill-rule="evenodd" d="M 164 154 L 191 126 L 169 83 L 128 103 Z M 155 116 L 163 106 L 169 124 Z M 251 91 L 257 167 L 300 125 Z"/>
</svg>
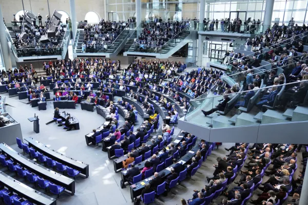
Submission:
<svg viewBox="0 0 308 205">
<path fill-rule="evenodd" d="M 199 150 L 200 146 L 198 145 L 198 142 L 200 142 L 200 139 L 197 140 L 196 144 L 194 147 L 192 147 L 190 149 L 190 151 L 188 151 L 182 158 L 179 159 L 179 162 L 182 161 L 183 164 L 186 163 L 187 161 L 191 160 L 192 157 L 194 157 L 197 153 L 197 151 Z M 169 167 L 165 168 L 164 170 L 160 171 L 159 172 L 159 175 L 163 178 L 163 181 L 165 180 L 165 178 L 167 176 L 169 176 L 171 174 L 171 168 L 173 167 L 174 165 L 170 165 Z M 164 173 L 164 176 L 162 176 Z M 130 198 L 131 198 L 131 201 L 134 200 L 135 197 L 141 195 L 141 192 L 142 190 L 144 189 L 145 185 L 147 183 L 149 183 L 149 181 L 151 180 L 153 176 L 147 178 L 147 179 L 144 179 L 134 185 L 131 185 L 129 186 L 129 189 L 130 189 Z M 143 183 L 143 185 L 142 185 Z M 133 188 L 132 186 L 134 186 L 135 188 Z"/>
</svg>

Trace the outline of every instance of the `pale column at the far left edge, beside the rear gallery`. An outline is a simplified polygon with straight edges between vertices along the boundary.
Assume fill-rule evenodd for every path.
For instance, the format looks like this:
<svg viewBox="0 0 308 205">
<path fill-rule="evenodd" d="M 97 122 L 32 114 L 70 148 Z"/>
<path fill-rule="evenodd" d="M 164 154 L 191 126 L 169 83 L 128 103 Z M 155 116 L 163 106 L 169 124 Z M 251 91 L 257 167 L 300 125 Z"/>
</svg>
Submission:
<svg viewBox="0 0 308 205">
<path fill-rule="evenodd" d="M 2 56 L 3 56 L 3 63 L 5 66 L 5 70 L 9 70 L 9 69 L 12 69 L 12 62 L 11 62 L 8 39 L 6 37 L 6 27 L 4 25 L 1 7 L 0 7 L 0 31 L 1 31 L 0 32 L 0 44 L 1 44 L 1 50 L 2 50 Z"/>
</svg>

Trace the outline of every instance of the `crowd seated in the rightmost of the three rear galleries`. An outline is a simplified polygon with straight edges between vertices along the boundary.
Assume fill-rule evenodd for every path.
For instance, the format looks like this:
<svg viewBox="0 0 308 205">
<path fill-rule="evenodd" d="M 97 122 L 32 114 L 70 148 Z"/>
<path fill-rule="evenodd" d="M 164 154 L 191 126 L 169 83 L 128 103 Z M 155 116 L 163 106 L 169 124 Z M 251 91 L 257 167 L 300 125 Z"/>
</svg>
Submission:
<svg viewBox="0 0 308 205">
<path fill-rule="evenodd" d="M 160 18 L 161 19 L 161 18 Z M 138 36 L 135 50 L 144 52 L 159 52 L 162 46 L 172 37 L 189 27 L 185 22 L 158 22 L 143 25 L 142 32 Z"/>
</svg>

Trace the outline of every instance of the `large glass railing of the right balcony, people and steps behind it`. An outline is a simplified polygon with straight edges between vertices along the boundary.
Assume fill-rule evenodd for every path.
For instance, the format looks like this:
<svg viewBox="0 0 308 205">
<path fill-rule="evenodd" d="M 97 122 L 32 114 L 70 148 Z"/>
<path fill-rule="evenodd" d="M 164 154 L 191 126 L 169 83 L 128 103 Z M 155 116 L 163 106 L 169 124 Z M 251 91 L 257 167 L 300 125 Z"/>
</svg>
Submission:
<svg viewBox="0 0 308 205">
<path fill-rule="evenodd" d="M 260 88 L 242 85 L 239 92 L 228 94 L 225 88 L 215 85 L 206 95 L 190 100 L 184 120 L 208 128 L 306 121 L 308 75 L 303 79 L 267 87 L 263 85 L 268 82 L 262 80 Z M 224 94 L 218 95 L 221 92 Z"/>
</svg>

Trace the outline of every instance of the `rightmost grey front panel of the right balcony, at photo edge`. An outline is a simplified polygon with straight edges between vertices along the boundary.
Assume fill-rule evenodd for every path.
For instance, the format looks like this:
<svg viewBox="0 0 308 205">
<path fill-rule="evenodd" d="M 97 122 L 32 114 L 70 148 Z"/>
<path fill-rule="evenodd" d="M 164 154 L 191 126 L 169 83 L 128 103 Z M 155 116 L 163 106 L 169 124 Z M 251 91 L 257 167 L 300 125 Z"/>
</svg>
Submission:
<svg viewBox="0 0 308 205">
<path fill-rule="evenodd" d="M 308 121 L 260 125 L 258 143 L 308 144 Z"/>
</svg>

